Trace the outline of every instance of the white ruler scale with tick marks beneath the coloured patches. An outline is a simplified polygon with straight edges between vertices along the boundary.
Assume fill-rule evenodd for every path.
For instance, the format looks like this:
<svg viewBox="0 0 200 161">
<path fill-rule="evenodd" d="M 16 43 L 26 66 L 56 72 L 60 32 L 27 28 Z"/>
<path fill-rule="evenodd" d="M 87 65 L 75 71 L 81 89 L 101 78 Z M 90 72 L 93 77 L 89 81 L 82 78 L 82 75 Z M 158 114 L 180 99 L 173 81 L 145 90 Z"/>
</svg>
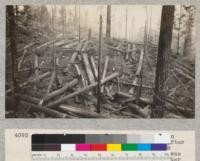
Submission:
<svg viewBox="0 0 200 161">
<path fill-rule="evenodd" d="M 158 152 L 151 153 L 141 152 L 135 153 L 32 153 L 32 160 L 158 160 L 158 161 L 170 161 L 170 153 Z"/>
</svg>

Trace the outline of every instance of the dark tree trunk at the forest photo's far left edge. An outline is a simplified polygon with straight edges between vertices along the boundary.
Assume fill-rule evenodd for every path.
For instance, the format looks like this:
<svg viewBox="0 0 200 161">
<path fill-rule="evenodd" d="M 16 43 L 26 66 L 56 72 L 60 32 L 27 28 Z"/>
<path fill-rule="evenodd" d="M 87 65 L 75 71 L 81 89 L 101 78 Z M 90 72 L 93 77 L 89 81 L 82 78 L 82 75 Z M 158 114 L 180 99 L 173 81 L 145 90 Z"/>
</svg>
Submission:
<svg viewBox="0 0 200 161">
<path fill-rule="evenodd" d="M 12 5 L 7 6 L 8 20 L 9 20 L 9 37 L 10 37 L 10 50 L 11 50 L 11 60 L 12 60 L 12 81 L 13 87 L 17 86 L 17 81 L 15 78 L 15 72 L 17 70 L 17 45 L 16 45 L 16 23 L 14 15 L 14 7 Z"/>
</svg>

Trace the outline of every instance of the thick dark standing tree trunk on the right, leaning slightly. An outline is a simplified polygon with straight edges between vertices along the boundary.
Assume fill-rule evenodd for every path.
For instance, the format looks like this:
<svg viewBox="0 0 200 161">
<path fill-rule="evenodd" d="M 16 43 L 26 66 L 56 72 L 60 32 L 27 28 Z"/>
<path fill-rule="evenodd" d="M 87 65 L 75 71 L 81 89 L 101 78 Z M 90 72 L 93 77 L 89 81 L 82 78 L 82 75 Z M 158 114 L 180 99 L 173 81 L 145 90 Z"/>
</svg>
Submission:
<svg viewBox="0 0 200 161">
<path fill-rule="evenodd" d="M 175 7 L 163 6 L 161 16 L 160 37 L 156 65 L 155 89 L 151 117 L 163 117 L 165 106 L 165 82 L 168 74 L 168 56 L 171 48 L 172 29 Z"/>
</svg>

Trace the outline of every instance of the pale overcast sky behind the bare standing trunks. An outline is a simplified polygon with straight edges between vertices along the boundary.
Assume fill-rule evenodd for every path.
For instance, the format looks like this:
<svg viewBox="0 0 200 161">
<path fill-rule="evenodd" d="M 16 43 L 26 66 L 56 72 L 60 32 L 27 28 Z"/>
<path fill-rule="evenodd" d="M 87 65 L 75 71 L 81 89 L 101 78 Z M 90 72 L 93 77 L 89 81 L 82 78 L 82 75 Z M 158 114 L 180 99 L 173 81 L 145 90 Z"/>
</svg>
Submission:
<svg viewBox="0 0 200 161">
<path fill-rule="evenodd" d="M 61 6 L 57 5 L 57 12 Z M 48 6 L 49 11 L 50 5 Z M 75 5 L 65 5 L 67 12 L 69 10 L 74 14 Z M 79 5 L 76 5 L 77 14 Z M 126 9 L 127 9 L 127 38 L 128 40 L 142 40 L 142 36 L 138 36 L 139 32 L 144 31 L 145 21 L 147 16 L 149 18 L 148 26 L 150 26 L 151 17 L 151 29 L 157 30 L 159 33 L 160 19 L 161 19 L 161 5 L 111 5 L 111 35 L 118 38 L 125 38 L 126 28 Z M 59 13 L 57 13 L 59 14 Z M 92 28 L 93 31 L 99 30 L 99 16 L 103 16 L 103 32 L 106 30 L 106 5 L 80 5 L 81 26 L 86 24 L 87 15 L 87 27 Z M 69 18 L 69 17 L 68 17 Z"/>
</svg>

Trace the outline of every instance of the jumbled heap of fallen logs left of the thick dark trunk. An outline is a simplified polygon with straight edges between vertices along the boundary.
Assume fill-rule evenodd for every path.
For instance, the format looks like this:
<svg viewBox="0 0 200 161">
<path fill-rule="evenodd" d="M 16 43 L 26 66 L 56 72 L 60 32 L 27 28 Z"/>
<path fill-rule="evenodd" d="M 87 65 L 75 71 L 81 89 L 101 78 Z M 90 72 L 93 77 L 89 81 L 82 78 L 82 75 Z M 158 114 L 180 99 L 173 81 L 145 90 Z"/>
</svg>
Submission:
<svg viewBox="0 0 200 161">
<path fill-rule="evenodd" d="M 61 51 L 62 53 L 72 52 L 71 57 L 69 58 L 67 65 L 63 68 L 59 66 L 59 63 L 54 62 L 54 67 L 42 67 L 40 57 L 45 56 L 43 53 L 45 50 Z M 76 117 L 89 117 L 89 118 L 109 118 L 111 116 L 124 115 L 124 117 L 133 117 L 133 118 L 147 118 L 149 117 L 148 109 L 149 103 L 152 101 L 147 100 L 138 96 L 135 98 L 132 93 L 123 93 L 120 91 L 119 84 L 122 82 L 119 81 L 120 75 L 118 72 L 108 73 L 108 64 L 110 61 L 109 54 L 104 56 L 102 74 L 101 75 L 101 99 L 102 102 L 101 108 L 102 112 L 97 113 L 96 104 L 97 104 L 97 85 L 98 85 L 98 71 L 97 71 L 97 57 L 95 54 L 89 54 L 89 46 L 95 46 L 92 41 L 82 39 L 80 43 L 77 39 L 72 40 L 71 42 L 67 39 L 56 39 L 50 40 L 34 49 L 34 74 L 32 77 L 28 78 L 27 81 L 18 84 L 17 89 L 10 88 L 6 91 L 6 95 L 11 95 L 14 92 L 14 96 L 19 100 L 19 107 L 28 107 L 29 111 L 39 111 L 39 113 L 44 113 L 50 117 L 58 118 L 76 118 Z M 127 49 L 122 49 L 122 44 L 119 43 L 117 47 L 107 45 L 108 50 L 111 53 L 122 54 L 125 60 L 128 60 L 131 53 L 135 52 L 135 49 L 131 49 L 131 45 L 127 45 Z M 27 48 L 24 48 L 24 53 L 19 57 L 18 61 L 18 71 L 24 70 L 23 63 L 27 57 Z M 42 53 L 41 53 L 42 52 Z M 137 67 L 136 77 L 133 80 L 131 90 L 134 87 L 137 88 L 146 88 L 143 87 L 140 83 L 142 76 L 142 64 L 143 64 L 143 50 L 140 50 L 140 59 Z M 53 55 L 56 57 L 54 59 L 59 59 L 59 56 Z M 45 69 L 46 72 L 43 72 Z M 47 71 L 48 70 L 48 71 Z M 62 72 L 59 72 L 62 70 Z M 75 73 L 72 72 L 75 71 Z M 56 86 L 56 82 L 59 82 L 58 75 L 62 73 L 62 77 L 67 77 L 69 73 L 73 73 L 73 78 L 65 83 L 61 81 L 61 86 Z M 58 74 L 59 73 L 59 74 Z M 32 94 L 23 94 L 22 89 L 27 87 L 34 87 L 33 89 L 37 92 L 40 92 L 38 85 L 40 82 L 48 82 L 46 92 L 43 94 L 40 93 L 37 96 Z M 110 82 L 110 83 L 109 83 Z M 123 82 L 126 84 L 126 82 Z M 122 84 L 123 84 L 122 83 Z M 112 84 L 112 85 L 111 85 Z M 56 88 L 53 88 L 56 86 Z M 117 90 L 115 90 L 115 87 Z M 147 87 L 148 88 L 148 87 Z M 151 87 L 149 87 L 151 88 Z M 131 91 L 130 90 L 130 91 Z M 29 91 L 29 93 L 31 93 Z M 117 98 L 122 99 L 122 102 L 117 102 Z M 80 102 L 83 99 L 84 101 L 76 104 L 69 104 L 68 101 L 74 99 L 74 102 Z M 114 102 L 114 101 L 116 102 Z M 137 101 L 137 102 L 136 102 Z M 140 107 L 138 101 L 142 102 L 145 107 Z M 85 105 L 91 105 L 92 109 L 85 107 Z"/>
</svg>

